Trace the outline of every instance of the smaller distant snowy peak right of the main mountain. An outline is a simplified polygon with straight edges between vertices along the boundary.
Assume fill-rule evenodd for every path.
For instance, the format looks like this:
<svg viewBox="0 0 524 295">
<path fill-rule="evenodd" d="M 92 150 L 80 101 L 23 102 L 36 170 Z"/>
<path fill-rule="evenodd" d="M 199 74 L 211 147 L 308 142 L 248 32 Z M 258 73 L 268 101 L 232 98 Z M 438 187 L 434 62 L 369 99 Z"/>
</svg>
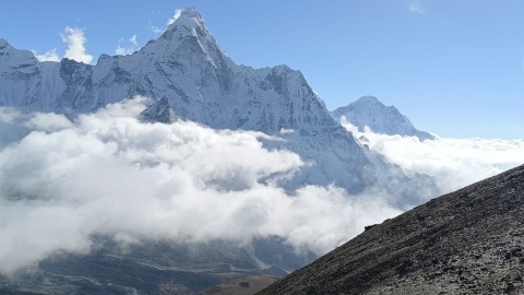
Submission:
<svg viewBox="0 0 524 295">
<path fill-rule="evenodd" d="M 378 133 L 417 137 L 420 141 L 434 139 L 430 133 L 415 129 L 409 119 L 394 106 L 384 106 L 373 96 L 362 96 L 348 106 L 331 111 L 331 116 L 337 121 L 344 116 L 359 131 L 368 126 Z"/>
</svg>

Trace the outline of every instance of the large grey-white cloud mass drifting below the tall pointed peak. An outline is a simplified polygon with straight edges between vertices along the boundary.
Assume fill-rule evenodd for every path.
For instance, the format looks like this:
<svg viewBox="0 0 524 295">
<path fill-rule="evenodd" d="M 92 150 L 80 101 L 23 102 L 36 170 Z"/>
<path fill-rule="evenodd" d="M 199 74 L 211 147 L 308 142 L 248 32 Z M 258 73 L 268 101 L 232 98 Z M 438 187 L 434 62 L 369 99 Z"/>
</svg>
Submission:
<svg viewBox="0 0 524 295">
<path fill-rule="evenodd" d="M 139 97 L 74 121 L 0 108 L 0 273 L 56 251 L 88 253 L 93 235 L 239 244 L 277 235 L 323 253 L 401 213 L 336 187 L 290 196 L 278 182 L 302 162 L 264 149 L 258 139 L 267 135 L 142 123 L 144 108 Z"/>
</svg>

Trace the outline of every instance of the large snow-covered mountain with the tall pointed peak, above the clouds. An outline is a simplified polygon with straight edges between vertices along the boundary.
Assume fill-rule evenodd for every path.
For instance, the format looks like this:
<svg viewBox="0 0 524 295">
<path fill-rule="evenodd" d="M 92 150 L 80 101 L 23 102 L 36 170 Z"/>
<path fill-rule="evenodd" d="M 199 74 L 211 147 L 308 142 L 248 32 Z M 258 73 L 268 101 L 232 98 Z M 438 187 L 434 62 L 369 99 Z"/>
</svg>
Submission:
<svg viewBox="0 0 524 295">
<path fill-rule="evenodd" d="M 96 66 L 69 59 L 38 62 L 31 51 L 0 39 L 0 106 L 74 117 L 134 95 L 158 105 L 144 115 L 171 109 L 179 119 L 215 129 L 272 135 L 286 130 L 287 141 L 271 148 L 289 149 L 312 164 L 287 184 L 289 188 L 334 182 L 357 192 L 377 182 L 366 155 L 370 152 L 331 118 L 299 71 L 236 64 L 194 9 L 182 11 L 140 51 L 103 55 Z M 171 115 L 155 116 L 170 121 Z"/>
</svg>

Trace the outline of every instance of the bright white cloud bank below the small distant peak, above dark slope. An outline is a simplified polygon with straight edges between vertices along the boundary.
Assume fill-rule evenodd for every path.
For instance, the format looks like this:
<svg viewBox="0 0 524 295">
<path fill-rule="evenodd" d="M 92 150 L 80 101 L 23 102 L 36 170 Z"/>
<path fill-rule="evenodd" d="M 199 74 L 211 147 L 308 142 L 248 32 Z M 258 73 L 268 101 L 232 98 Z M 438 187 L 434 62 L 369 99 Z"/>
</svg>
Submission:
<svg viewBox="0 0 524 295">
<path fill-rule="evenodd" d="M 362 144 L 405 169 L 434 178 L 442 193 L 451 192 L 524 164 L 524 140 L 444 139 L 420 142 L 415 137 L 365 132 L 342 119 Z"/>
</svg>

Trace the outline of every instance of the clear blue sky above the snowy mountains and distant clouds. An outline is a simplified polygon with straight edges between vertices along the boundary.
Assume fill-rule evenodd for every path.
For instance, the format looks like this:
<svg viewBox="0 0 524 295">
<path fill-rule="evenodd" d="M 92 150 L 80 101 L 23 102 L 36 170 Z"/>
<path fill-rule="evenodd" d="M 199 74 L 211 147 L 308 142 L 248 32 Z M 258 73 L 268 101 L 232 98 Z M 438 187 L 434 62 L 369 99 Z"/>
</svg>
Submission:
<svg viewBox="0 0 524 295">
<path fill-rule="evenodd" d="M 237 63 L 302 71 L 330 110 L 374 95 L 441 137 L 524 138 L 521 0 L 7 1 L 0 37 L 63 57 L 60 34 L 82 28 L 96 63 L 186 7 Z"/>
</svg>

